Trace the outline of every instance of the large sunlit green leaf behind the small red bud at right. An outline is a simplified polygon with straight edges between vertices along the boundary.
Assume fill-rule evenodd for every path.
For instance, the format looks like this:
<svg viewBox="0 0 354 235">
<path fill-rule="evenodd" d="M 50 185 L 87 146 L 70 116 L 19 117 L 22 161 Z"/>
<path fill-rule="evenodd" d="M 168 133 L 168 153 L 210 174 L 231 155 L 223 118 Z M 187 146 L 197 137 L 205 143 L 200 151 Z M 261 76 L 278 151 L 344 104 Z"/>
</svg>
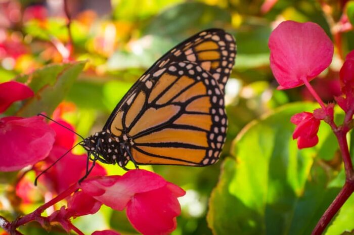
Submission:
<svg viewBox="0 0 354 235">
<path fill-rule="evenodd" d="M 290 117 L 314 108 L 286 105 L 241 131 L 236 159 L 224 162 L 209 202 L 207 220 L 214 234 L 311 233 L 341 187 L 329 186 L 338 172 L 316 157 L 322 148 L 337 148 L 336 142 L 322 140 L 316 148 L 298 150 L 292 140 Z M 330 129 L 320 131 L 327 136 Z"/>
</svg>

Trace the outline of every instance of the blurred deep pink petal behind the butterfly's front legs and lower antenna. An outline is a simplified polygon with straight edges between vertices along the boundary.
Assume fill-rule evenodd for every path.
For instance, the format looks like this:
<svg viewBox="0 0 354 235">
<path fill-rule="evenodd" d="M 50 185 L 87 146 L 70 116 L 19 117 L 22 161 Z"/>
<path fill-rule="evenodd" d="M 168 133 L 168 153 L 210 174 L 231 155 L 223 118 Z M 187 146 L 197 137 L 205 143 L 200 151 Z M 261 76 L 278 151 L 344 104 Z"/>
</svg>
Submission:
<svg viewBox="0 0 354 235">
<path fill-rule="evenodd" d="M 66 151 L 66 148 L 54 146 L 46 162 L 48 165 L 52 164 L 60 156 L 65 154 Z M 56 193 L 60 194 L 84 176 L 86 173 L 86 161 L 87 155 L 75 155 L 69 152 L 43 175 L 43 180 L 45 180 L 46 184 Z M 90 162 L 89 167 L 91 166 L 92 162 Z M 96 164 L 89 177 L 97 175 L 103 176 L 106 174 L 106 170 L 99 164 Z"/>
</svg>

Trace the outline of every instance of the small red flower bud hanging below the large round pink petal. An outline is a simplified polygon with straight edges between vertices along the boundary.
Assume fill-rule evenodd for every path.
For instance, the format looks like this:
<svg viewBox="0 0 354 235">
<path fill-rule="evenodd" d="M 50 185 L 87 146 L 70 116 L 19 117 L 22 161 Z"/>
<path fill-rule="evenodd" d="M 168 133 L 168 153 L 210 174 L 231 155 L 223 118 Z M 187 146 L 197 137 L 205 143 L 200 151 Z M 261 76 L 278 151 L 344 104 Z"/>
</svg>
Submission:
<svg viewBox="0 0 354 235">
<path fill-rule="evenodd" d="M 316 119 L 312 113 L 302 112 L 292 116 L 290 121 L 297 125 L 292 137 L 297 139 L 297 147 L 299 149 L 317 145 L 320 120 Z"/>
</svg>

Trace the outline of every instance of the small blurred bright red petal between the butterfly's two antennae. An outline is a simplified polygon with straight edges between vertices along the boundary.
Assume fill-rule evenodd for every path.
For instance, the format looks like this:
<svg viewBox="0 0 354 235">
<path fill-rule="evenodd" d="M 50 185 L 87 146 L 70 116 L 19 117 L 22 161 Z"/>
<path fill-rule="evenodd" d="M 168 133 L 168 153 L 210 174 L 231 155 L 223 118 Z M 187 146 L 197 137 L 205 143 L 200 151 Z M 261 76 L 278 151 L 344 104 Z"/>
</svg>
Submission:
<svg viewBox="0 0 354 235">
<path fill-rule="evenodd" d="M 59 122 L 60 124 L 62 124 L 63 126 L 68 127 L 70 130 L 75 131 L 74 127 L 71 124 L 67 123 L 66 121 L 64 121 L 62 119 L 59 119 L 56 121 Z M 64 127 L 62 127 L 54 122 L 51 122 L 50 126 L 56 132 L 54 145 L 62 146 L 67 149 L 70 149 L 74 145 L 76 135 L 73 132 L 65 129 Z"/>
</svg>

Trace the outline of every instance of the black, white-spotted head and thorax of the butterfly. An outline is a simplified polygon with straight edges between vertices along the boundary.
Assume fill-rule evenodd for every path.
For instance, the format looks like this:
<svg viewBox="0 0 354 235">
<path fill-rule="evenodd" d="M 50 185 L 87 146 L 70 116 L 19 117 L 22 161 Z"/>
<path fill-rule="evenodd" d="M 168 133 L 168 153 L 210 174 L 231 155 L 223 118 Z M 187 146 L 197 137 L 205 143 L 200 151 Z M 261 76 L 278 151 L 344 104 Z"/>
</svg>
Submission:
<svg viewBox="0 0 354 235">
<path fill-rule="evenodd" d="M 124 136 L 123 136 L 124 137 Z M 84 139 L 81 146 L 87 151 L 91 160 L 124 167 L 129 161 L 130 146 L 127 139 L 115 136 L 109 130 L 102 130 Z"/>
</svg>

